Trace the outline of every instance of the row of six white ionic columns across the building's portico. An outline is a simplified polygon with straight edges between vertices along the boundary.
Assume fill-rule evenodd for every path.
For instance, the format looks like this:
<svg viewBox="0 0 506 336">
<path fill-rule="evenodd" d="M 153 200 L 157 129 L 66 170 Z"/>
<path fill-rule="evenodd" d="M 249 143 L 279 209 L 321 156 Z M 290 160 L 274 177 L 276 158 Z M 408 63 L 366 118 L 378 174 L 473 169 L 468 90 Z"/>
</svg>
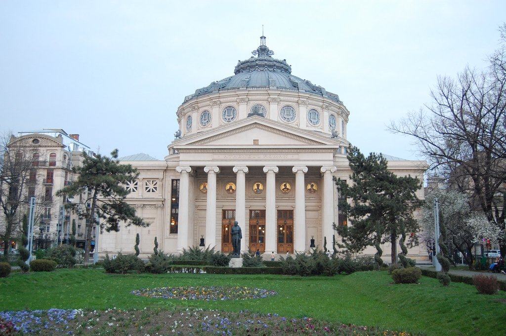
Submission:
<svg viewBox="0 0 506 336">
<path fill-rule="evenodd" d="M 181 174 L 180 177 L 180 196 L 179 196 L 179 217 L 178 217 L 178 251 L 187 248 L 189 245 L 190 227 L 190 202 L 189 199 L 189 179 L 192 168 L 190 166 L 178 166 L 176 170 Z M 235 220 L 239 223 L 243 232 L 241 240 L 241 251 L 246 251 L 246 241 L 248 237 L 246 232 L 246 174 L 248 167 L 234 166 L 232 168 L 236 174 L 235 190 Z M 322 202 L 322 241 L 326 237 L 327 246 L 332 244 L 332 234 L 334 222 L 334 199 L 333 199 L 333 181 L 332 173 L 335 172 L 334 166 L 322 166 L 320 172 L 323 175 L 323 202 Z M 265 186 L 265 251 L 266 253 L 277 252 L 276 244 L 276 173 L 279 172 L 277 166 L 265 166 L 266 173 Z M 220 173 L 218 166 L 205 166 L 204 172 L 207 173 L 207 195 L 206 195 L 206 213 L 205 213 L 205 246 L 216 246 L 216 195 L 217 183 L 216 176 Z M 293 221 L 293 248 L 294 252 L 304 252 L 306 250 L 306 183 L 305 174 L 308 172 L 306 166 L 294 166 L 292 172 L 295 174 L 295 211 Z M 330 239 L 330 240 L 329 240 Z"/>
</svg>

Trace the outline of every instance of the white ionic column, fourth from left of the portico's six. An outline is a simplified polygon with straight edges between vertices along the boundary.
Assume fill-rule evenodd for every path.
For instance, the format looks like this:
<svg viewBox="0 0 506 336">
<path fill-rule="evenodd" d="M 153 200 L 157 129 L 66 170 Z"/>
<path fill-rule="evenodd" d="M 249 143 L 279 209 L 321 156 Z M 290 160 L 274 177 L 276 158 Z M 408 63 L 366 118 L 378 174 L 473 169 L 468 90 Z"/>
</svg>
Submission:
<svg viewBox="0 0 506 336">
<path fill-rule="evenodd" d="M 265 253 L 277 253 L 276 244 L 276 166 L 264 167 L 267 174 L 265 183 Z"/>
</svg>

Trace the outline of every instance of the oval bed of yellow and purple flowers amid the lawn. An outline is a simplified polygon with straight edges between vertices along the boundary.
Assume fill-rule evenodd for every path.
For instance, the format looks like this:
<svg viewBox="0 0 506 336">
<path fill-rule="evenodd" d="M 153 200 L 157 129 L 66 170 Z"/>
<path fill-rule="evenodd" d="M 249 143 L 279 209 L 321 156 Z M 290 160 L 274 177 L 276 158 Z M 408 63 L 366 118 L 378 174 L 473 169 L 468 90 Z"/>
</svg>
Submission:
<svg viewBox="0 0 506 336">
<path fill-rule="evenodd" d="M 132 294 L 149 298 L 216 301 L 262 299 L 277 293 L 260 288 L 210 286 L 144 288 L 132 291 Z"/>
</svg>

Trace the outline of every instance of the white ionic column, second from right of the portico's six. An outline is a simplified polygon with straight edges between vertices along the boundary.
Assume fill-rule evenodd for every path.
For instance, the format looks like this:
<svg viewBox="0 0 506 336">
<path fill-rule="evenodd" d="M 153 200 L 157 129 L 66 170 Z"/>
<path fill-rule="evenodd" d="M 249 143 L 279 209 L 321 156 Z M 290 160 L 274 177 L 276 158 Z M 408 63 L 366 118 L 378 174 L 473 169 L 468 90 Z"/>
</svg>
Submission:
<svg viewBox="0 0 506 336">
<path fill-rule="evenodd" d="M 295 218 L 293 234 L 295 252 L 306 251 L 306 183 L 304 174 L 308 172 L 308 167 L 296 166 L 292 168 L 295 173 Z"/>
</svg>

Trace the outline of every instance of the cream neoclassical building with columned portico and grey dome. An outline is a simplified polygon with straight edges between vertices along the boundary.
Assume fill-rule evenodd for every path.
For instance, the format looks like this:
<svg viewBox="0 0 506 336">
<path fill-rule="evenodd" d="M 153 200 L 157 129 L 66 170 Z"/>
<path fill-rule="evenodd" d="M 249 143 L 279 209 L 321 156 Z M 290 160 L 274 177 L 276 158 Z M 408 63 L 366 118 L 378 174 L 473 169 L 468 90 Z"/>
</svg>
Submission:
<svg viewBox="0 0 506 336">
<path fill-rule="evenodd" d="M 155 237 L 164 253 L 191 246 L 230 252 L 234 221 L 242 251 L 304 252 L 325 242 L 331 249 L 333 223 L 347 225 L 332 177 L 351 173 L 350 112 L 337 94 L 294 76 L 265 41 L 262 36 L 233 76 L 185 97 L 177 110 L 180 130 L 163 161 L 145 154 L 121 158 L 140 171 L 127 185 L 127 199 L 151 225 L 102 234 L 102 254 L 133 252 L 137 233 L 144 257 Z M 396 174 L 423 178 L 424 161 L 386 157 Z M 390 259 L 390 248 L 384 251 Z M 427 255 L 425 247 L 409 254 Z"/>
</svg>

